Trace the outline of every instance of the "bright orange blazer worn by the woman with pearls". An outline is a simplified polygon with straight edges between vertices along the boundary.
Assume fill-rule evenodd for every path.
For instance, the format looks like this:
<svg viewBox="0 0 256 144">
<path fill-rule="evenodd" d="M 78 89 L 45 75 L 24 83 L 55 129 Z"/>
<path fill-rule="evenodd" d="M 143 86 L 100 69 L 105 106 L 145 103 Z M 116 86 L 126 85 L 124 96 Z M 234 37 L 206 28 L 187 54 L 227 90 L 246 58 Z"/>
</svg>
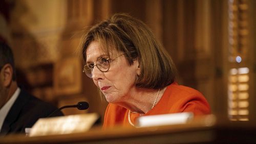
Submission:
<svg viewBox="0 0 256 144">
<path fill-rule="evenodd" d="M 103 128 L 131 126 L 128 121 L 128 112 L 128 109 L 110 103 L 105 111 Z M 210 114 L 210 107 L 202 93 L 174 82 L 167 86 L 156 106 L 144 115 L 177 112 L 193 112 L 194 115 Z M 131 113 L 131 121 L 135 124 L 139 116 L 138 113 Z"/>
</svg>

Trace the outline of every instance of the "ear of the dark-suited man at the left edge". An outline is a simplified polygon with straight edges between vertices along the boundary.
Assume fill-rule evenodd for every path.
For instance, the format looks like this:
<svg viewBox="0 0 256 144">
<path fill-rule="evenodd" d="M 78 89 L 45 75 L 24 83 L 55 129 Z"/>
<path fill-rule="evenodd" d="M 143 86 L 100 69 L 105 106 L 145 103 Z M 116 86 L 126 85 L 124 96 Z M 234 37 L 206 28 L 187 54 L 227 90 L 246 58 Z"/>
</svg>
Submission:
<svg viewBox="0 0 256 144">
<path fill-rule="evenodd" d="M 9 63 L 5 64 L 1 69 L 1 80 L 2 80 L 3 86 L 9 87 L 11 85 L 12 74 L 13 74 L 12 66 Z"/>
</svg>

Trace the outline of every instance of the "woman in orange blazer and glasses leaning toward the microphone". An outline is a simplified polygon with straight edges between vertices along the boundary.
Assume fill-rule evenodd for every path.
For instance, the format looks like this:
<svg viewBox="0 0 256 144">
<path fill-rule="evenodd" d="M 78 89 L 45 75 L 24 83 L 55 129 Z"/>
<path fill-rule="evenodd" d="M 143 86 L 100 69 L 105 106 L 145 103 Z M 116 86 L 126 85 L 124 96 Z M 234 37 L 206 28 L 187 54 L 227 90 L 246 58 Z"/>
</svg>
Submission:
<svg viewBox="0 0 256 144">
<path fill-rule="evenodd" d="M 83 73 L 109 102 L 104 128 L 135 126 L 142 115 L 210 113 L 199 91 L 175 81 L 172 59 L 142 21 L 115 14 L 93 26 L 82 40 Z"/>
</svg>

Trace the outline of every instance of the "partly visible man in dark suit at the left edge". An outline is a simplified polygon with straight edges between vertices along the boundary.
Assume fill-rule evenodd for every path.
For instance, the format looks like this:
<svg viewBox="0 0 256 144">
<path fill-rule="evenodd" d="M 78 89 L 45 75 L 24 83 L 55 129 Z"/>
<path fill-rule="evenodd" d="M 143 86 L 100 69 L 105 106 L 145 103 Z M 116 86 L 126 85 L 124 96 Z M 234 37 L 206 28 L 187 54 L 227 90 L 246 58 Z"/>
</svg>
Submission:
<svg viewBox="0 0 256 144">
<path fill-rule="evenodd" d="M 0 70 L 0 135 L 25 133 L 25 128 L 57 109 L 17 86 L 13 54 L 4 42 L 0 42 Z M 59 111 L 52 116 L 61 115 Z"/>
</svg>

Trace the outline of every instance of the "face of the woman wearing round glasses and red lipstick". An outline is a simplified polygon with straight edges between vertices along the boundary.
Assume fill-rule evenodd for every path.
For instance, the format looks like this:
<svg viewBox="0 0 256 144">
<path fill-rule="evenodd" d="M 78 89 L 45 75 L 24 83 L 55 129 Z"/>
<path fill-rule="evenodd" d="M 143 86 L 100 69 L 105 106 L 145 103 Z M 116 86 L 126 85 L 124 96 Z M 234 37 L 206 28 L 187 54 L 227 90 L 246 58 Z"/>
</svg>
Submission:
<svg viewBox="0 0 256 144">
<path fill-rule="evenodd" d="M 113 50 L 112 53 L 118 52 Z M 116 57 L 121 55 L 116 59 L 106 55 L 97 41 L 92 41 L 87 48 L 87 63 L 95 63 L 99 57 L 114 59 L 110 60 L 109 71 L 102 72 L 97 66 L 92 70 L 94 84 L 100 88 L 109 103 L 123 103 L 129 100 L 129 95 L 136 89 L 136 76 L 140 74 L 138 61 L 129 65 L 122 54 L 115 55 Z"/>
</svg>

